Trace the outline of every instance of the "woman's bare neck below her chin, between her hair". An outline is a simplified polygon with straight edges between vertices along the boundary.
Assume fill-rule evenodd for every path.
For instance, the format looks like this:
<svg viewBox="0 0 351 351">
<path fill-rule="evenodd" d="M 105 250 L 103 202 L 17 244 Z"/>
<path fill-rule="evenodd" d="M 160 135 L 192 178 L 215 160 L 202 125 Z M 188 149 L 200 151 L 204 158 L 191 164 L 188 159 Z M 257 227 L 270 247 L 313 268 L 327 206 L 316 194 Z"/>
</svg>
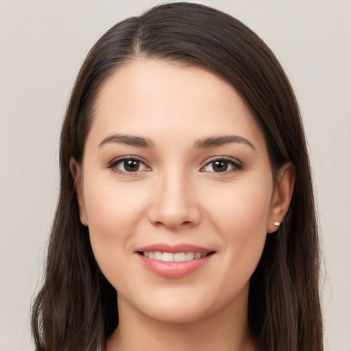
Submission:
<svg viewBox="0 0 351 351">
<path fill-rule="evenodd" d="M 193 322 L 170 323 L 149 318 L 119 296 L 119 326 L 108 339 L 107 351 L 254 351 L 247 320 L 247 303 L 228 306 Z M 231 308 L 232 307 L 232 308 Z"/>
</svg>

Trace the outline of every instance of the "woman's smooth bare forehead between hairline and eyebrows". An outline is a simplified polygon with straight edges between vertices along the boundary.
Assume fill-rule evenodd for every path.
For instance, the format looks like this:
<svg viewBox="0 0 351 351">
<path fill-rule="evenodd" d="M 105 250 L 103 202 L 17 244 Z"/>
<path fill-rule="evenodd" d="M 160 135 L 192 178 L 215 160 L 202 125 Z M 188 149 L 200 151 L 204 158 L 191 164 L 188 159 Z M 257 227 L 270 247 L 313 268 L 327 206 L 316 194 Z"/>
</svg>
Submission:
<svg viewBox="0 0 351 351">
<path fill-rule="evenodd" d="M 111 133 L 145 135 L 156 144 L 165 136 L 190 143 L 231 133 L 265 144 L 231 84 L 202 67 L 162 60 L 131 60 L 102 84 L 89 134 Z"/>
</svg>

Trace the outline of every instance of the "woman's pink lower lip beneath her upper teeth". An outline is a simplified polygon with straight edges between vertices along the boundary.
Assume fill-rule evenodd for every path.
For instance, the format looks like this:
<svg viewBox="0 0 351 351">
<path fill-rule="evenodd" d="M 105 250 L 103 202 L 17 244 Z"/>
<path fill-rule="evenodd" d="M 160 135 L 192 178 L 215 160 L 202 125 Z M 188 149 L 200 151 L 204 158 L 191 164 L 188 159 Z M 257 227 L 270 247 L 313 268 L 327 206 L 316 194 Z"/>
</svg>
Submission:
<svg viewBox="0 0 351 351">
<path fill-rule="evenodd" d="M 140 256 L 145 267 L 153 273 L 167 278 L 181 278 L 206 265 L 213 254 L 184 262 L 163 262 L 147 258 L 141 254 L 138 254 L 138 256 Z"/>
</svg>

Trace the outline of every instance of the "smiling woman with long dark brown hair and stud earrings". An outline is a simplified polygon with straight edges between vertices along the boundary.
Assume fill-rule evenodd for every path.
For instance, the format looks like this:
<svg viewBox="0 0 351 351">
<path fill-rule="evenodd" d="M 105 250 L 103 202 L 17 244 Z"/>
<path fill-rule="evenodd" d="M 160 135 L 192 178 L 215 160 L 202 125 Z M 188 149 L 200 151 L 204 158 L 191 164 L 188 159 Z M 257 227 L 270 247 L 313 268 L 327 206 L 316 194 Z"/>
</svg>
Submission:
<svg viewBox="0 0 351 351">
<path fill-rule="evenodd" d="M 37 350 L 322 350 L 300 113 L 245 25 L 172 3 L 112 27 L 60 168 Z"/>
</svg>

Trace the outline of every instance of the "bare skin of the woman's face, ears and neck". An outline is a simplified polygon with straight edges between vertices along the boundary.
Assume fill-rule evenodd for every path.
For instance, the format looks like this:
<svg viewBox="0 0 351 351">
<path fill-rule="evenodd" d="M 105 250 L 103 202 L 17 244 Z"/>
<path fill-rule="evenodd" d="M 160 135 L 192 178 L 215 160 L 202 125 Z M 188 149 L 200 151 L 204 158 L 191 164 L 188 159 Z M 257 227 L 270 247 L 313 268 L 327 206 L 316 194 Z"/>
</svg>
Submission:
<svg viewBox="0 0 351 351">
<path fill-rule="evenodd" d="M 112 134 L 153 147 L 106 141 Z M 248 143 L 194 147 L 228 135 Z M 138 170 L 126 172 L 124 156 L 141 160 Z M 213 161 L 223 158 L 234 163 L 218 171 Z M 254 350 L 249 280 L 289 208 L 293 171 L 285 165 L 274 182 L 261 128 L 228 82 L 180 63 L 128 62 L 101 87 L 82 165 L 72 159 L 71 171 L 95 258 L 118 291 L 120 324 L 107 350 Z M 167 278 L 135 252 L 154 243 L 215 254 Z"/>
</svg>

